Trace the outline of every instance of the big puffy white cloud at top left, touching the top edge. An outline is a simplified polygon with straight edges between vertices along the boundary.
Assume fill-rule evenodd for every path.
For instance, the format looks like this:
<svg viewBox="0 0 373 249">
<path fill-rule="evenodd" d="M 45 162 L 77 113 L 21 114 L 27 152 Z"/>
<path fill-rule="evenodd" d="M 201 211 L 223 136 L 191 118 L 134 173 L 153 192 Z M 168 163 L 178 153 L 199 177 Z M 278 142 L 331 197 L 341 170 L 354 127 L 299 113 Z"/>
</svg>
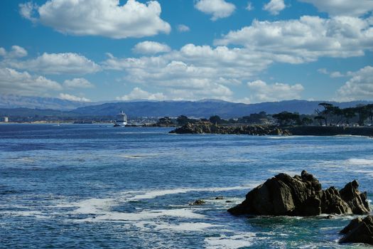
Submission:
<svg viewBox="0 0 373 249">
<path fill-rule="evenodd" d="M 119 0 L 50 0 L 42 6 L 20 4 L 20 13 L 33 22 L 77 36 L 139 38 L 171 31 L 170 24 L 160 18 L 158 1 L 141 4 L 128 0 L 120 6 Z"/>
</svg>

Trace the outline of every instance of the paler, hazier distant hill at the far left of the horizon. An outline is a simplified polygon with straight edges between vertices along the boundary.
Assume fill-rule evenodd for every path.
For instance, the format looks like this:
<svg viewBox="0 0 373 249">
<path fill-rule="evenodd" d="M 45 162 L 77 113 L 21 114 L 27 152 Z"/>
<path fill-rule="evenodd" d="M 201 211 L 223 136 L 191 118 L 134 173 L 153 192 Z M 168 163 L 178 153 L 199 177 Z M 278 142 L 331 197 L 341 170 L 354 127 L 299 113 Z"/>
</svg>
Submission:
<svg viewBox="0 0 373 249">
<path fill-rule="evenodd" d="M 98 102 L 78 102 L 61 100 L 55 97 L 29 97 L 18 95 L 0 95 L 0 108 L 31 108 L 52 110 L 74 110 L 77 107 L 97 105 Z"/>
</svg>

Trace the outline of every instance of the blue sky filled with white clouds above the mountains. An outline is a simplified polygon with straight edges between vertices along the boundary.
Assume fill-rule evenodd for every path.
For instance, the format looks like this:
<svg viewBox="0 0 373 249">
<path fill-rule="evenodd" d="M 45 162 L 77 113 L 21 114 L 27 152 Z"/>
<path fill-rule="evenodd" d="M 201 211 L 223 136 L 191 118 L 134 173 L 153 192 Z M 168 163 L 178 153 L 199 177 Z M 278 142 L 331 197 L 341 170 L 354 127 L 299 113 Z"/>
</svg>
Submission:
<svg viewBox="0 0 373 249">
<path fill-rule="evenodd" d="M 0 1 L 0 94 L 373 100 L 373 0 Z"/>
</svg>

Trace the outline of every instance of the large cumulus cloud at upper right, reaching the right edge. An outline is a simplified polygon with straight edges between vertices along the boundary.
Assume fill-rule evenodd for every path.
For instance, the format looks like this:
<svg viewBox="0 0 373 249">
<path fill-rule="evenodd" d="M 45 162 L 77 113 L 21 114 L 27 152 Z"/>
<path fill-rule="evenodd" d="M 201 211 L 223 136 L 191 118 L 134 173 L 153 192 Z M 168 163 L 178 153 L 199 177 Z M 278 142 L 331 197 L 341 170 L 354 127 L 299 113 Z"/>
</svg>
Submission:
<svg viewBox="0 0 373 249">
<path fill-rule="evenodd" d="M 302 16 L 287 21 L 256 21 L 230 31 L 215 45 L 239 45 L 251 51 L 272 53 L 274 60 L 304 63 L 319 57 L 348 58 L 373 50 L 369 19 L 337 16 Z"/>
</svg>

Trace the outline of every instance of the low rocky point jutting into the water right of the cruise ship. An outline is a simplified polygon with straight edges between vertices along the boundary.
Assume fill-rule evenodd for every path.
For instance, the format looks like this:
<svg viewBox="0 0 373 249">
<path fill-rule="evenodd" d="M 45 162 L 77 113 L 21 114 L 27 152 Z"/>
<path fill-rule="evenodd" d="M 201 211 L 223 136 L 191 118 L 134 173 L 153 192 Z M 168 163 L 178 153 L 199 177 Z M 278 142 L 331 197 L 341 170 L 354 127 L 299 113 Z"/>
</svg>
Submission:
<svg viewBox="0 0 373 249">
<path fill-rule="evenodd" d="M 287 129 L 261 125 L 222 126 L 210 122 L 187 123 L 174 129 L 176 134 L 249 134 L 249 135 L 291 135 Z"/>
</svg>

